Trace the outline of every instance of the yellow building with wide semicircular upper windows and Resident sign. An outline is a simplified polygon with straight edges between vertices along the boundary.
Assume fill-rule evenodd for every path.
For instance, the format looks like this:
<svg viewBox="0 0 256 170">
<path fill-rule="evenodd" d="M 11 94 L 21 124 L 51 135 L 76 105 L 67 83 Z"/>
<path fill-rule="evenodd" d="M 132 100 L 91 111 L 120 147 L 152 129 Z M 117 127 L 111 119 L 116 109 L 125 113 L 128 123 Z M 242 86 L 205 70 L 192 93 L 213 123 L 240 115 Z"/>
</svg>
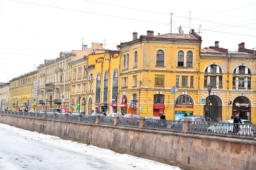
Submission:
<svg viewBox="0 0 256 170">
<path fill-rule="evenodd" d="M 206 98 L 201 106 L 201 115 L 208 117 L 207 85 L 212 85 L 210 93 L 210 119 L 217 122 L 231 119 L 239 112 L 241 119 L 256 123 L 256 51 L 239 44 L 238 51 L 220 48 L 218 41 L 214 47 L 201 50 L 200 97 Z"/>
</svg>

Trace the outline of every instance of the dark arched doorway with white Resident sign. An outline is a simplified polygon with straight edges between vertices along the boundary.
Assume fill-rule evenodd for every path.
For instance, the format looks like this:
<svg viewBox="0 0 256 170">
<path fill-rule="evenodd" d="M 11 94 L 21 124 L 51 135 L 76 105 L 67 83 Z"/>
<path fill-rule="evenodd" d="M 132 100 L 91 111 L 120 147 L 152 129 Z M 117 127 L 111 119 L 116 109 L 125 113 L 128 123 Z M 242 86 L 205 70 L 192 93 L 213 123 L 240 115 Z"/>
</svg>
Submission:
<svg viewBox="0 0 256 170">
<path fill-rule="evenodd" d="M 239 96 L 233 101 L 232 114 L 239 113 L 241 119 L 251 119 L 251 103 L 247 97 Z"/>
</svg>

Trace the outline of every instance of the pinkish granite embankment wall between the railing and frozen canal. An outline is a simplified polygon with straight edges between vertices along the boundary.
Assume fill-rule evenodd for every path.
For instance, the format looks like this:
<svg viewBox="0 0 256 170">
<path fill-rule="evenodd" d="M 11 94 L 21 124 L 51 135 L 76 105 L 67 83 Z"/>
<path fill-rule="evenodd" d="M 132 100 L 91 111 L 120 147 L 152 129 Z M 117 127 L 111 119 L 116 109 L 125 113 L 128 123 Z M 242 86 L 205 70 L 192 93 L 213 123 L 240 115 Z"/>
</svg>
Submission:
<svg viewBox="0 0 256 170">
<path fill-rule="evenodd" d="M 0 115 L 0 123 L 153 159 L 186 170 L 255 170 L 256 167 L 255 139 L 13 115 Z"/>
</svg>

